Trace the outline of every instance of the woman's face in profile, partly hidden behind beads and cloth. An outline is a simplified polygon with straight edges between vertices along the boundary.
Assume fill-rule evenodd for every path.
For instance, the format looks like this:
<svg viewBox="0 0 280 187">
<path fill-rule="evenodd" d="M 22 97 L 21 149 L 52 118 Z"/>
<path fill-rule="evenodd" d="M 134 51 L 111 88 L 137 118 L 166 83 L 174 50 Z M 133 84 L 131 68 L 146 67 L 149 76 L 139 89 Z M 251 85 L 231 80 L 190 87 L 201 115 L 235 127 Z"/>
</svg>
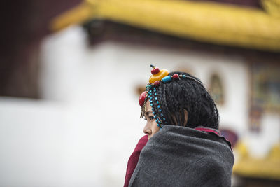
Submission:
<svg viewBox="0 0 280 187">
<path fill-rule="evenodd" d="M 144 113 L 145 120 L 147 120 L 147 123 L 144 127 L 143 132 L 148 135 L 148 139 L 153 137 L 153 135 L 160 130 L 160 127 L 158 127 L 158 123 L 155 122 L 155 116 L 153 116 L 152 107 L 150 105 L 150 102 L 146 102 L 146 113 Z"/>
</svg>

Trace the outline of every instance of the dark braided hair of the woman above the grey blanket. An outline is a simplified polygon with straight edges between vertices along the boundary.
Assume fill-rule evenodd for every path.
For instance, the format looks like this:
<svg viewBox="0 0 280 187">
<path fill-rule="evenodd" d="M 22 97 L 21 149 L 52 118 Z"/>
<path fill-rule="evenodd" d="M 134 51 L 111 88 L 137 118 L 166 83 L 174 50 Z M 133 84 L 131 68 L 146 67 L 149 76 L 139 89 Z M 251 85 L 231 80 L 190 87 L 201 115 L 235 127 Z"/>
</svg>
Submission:
<svg viewBox="0 0 280 187">
<path fill-rule="evenodd" d="M 163 125 L 191 128 L 202 125 L 218 129 L 219 115 L 216 104 L 200 79 L 179 71 L 169 75 L 174 74 L 186 75 L 187 78 L 161 83 L 156 87 L 161 113 L 166 118 L 166 123 L 162 121 Z M 152 99 L 153 102 L 156 102 L 155 97 Z M 187 121 L 186 111 L 188 112 Z M 155 114 L 160 116 L 158 107 L 155 107 Z"/>
</svg>

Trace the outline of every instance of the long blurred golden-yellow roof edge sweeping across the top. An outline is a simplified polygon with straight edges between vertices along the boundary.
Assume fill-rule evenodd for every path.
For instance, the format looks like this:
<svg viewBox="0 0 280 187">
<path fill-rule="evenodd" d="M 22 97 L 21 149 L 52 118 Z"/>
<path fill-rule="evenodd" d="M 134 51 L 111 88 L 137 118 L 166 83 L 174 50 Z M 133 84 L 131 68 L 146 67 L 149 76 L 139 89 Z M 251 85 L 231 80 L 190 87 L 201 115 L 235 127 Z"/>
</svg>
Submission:
<svg viewBox="0 0 280 187">
<path fill-rule="evenodd" d="M 228 46 L 280 51 L 280 19 L 255 8 L 176 0 L 87 0 L 59 15 L 54 31 L 100 18 Z"/>
</svg>

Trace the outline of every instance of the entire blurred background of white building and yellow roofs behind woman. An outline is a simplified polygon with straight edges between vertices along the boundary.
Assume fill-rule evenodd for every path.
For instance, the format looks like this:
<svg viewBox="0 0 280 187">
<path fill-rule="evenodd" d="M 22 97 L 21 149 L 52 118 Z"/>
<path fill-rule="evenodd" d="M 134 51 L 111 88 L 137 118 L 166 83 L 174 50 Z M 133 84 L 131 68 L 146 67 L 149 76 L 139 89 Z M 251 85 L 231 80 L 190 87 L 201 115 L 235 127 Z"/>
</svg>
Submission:
<svg viewBox="0 0 280 187">
<path fill-rule="evenodd" d="M 0 186 L 123 186 L 150 64 L 202 80 L 232 186 L 280 185 L 279 0 L 3 3 Z"/>
</svg>

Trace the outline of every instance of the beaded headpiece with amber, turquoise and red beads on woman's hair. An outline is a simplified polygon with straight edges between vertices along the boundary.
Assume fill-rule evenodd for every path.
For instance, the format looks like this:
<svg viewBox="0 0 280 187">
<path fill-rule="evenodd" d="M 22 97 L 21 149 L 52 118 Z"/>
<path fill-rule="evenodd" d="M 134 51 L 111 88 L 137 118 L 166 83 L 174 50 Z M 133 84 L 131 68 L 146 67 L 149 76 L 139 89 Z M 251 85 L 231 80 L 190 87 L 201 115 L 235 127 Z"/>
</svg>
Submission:
<svg viewBox="0 0 280 187">
<path fill-rule="evenodd" d="M 160 103 L 158 101 L 158 93 L 157 93 L 157 87 L 160 86 L 162 83 L 169 83 L 172 80 L 181 80 L 185 78 L 193 79 L 194 81 L 197 81 L 198 83 L 202 84 L 197 79 L 182 75 L 182 74 L 174 74 L 173 76 L 169 75 L 169 71 L 166 69 L 160 70 L 158 67 L 155 67 L 151 65 L 153 68 L 151 70 L 151 77 L 149 78 L 149 83 L 146 85 L 146 90 L 141 93 L 139 96 L 139 105 L 141 106 L 141 116 L 140 118 L 143 118 L 144 113 L 146 112 L 146 102 L 149 100 L 153 115 L 155 116 L 155 121 L 158 123 L 158 127 L 163 127 L 163 123 L 166 124 L 166 118 L 162 113 L 162 109 L 160 108 Z M 153 102 L 154 101 L 154 102 Z M 156 115 L 155 109 L 158 109 L 159 116 Z M 160 118 L 159 118 L 160 117 Z"/>
</svg>

